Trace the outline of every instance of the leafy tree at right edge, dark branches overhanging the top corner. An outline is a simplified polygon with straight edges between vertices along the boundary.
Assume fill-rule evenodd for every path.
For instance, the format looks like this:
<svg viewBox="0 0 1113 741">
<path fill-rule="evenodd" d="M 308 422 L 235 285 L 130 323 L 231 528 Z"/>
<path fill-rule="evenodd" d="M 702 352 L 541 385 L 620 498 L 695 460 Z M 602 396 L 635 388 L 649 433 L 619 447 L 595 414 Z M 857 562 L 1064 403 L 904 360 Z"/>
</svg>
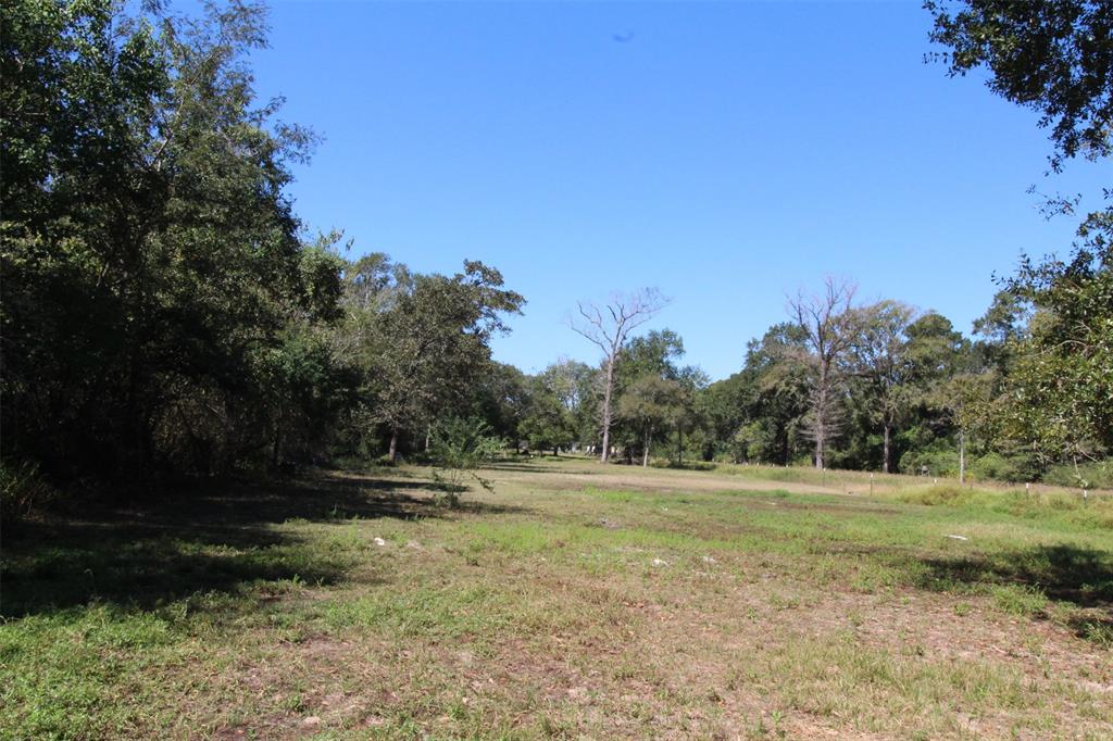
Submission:
<svg viewBox="0 0 1113 741">
<path fill-rule="evenodd" d="M 951 75 L 987 68 L 986 85 L 1040 111 L 1053 171 L 1113 154 L 1113 7 L 1107 0 L 926 3 Z M 1104 190 L 1106 202 L 1113 188 Z M 1080 198 L 1048 200 L 1074 215 Z M 1113 446 L 1113 207 L 1085 215 L 1068 259 L 1025 257 L 1006 289 L 1035 308 L 1015 357 L 1008 434 L 1047 456 Z"/>
</svg>

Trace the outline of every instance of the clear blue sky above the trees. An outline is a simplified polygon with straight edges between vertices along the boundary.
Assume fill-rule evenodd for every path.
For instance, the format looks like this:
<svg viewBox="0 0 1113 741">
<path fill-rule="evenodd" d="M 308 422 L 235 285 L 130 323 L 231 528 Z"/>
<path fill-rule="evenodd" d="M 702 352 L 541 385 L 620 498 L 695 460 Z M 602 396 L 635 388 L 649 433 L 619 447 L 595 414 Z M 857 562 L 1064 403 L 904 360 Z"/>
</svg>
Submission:
<svg viewBox="0 0 1113 741">
<path fill-rule="evenodd" d="M 577 299 L 657 286 L 650 327 L 722 378 L 836 275 L 968 332 L 1022 250 L 1070 245 L 1036 116 L 925 65 L 918 3 L 278 2 L 253 65 L 325 137 L 290 194 L 353 255 L 465 258 L 529 300 L 495 358 L 598 359 Z"/>
</svg>

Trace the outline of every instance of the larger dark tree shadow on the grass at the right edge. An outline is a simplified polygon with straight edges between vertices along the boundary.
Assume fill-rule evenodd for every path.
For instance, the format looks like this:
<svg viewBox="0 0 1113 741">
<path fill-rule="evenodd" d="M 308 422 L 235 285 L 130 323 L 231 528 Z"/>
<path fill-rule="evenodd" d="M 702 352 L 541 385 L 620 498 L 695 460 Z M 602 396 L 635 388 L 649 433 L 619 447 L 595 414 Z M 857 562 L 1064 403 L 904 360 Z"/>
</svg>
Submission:
<svg viewBox="0 0 1113 741">
<path fill-rule="evenodd" d="M 1013 584 L 1080 607 L 1113 610 L 1113 552 L 1109 551 L 1043 545 L 983 557 L 928 559 L 925 564 L 922 586 Z"/>
</svg>

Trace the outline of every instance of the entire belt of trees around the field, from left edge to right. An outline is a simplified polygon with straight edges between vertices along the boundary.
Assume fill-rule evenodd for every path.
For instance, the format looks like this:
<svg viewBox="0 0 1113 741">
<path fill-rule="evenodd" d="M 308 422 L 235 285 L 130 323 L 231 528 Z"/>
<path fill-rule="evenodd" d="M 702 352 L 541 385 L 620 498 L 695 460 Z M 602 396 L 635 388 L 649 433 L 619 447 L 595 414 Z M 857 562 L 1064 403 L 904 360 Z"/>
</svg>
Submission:
<svg viewBox="0 0 1113 741">
<path fill-rule="evenodd" d="M 1106 157 L 1109 3 L 958 6 L 928 3 L 951 72 L 988 67 L 1043 111 L 1054 169 Z M 316 137 L 255 95 L 262 7 L 16 0 L 0 37 L 6 496 L 394 461 L 460 419 L 642 465 L 1081 477 L 1113 448 L 1107 208 L 1070 258 L 1025 259 L 969 338 L 830 280 L 712 384 L 678 334 L 636 334 L 667 304 L 641 290 L 578 306 L 600 363 L 526 375 L 491 357 L 525 303 L 494 267 L 418 274 L 306 233 L 287 188 Z"/>
</svg>

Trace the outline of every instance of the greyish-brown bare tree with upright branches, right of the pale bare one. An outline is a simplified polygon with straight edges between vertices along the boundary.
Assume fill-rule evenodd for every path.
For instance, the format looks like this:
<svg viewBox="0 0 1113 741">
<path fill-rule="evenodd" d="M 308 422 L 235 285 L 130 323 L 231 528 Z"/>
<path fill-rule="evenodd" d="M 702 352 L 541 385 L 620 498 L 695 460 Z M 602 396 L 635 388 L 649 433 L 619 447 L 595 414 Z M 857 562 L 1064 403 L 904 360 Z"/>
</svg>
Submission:
<svg viewBox="0 0 1113 741">
<path fill-rule="evenodd" d="M 828 441 L 838 432 L 839 362 L 850 349 L 857 330 L 857 313 L 851 309 L 857 287 L 827 278 L 824 290 L 802 290 L 788 302 L 789 315 L 807 335 L 814 365 L 810 394 L 810 434 L 816 442 L 816 467 L 824 467 Z"/>
</svg>

